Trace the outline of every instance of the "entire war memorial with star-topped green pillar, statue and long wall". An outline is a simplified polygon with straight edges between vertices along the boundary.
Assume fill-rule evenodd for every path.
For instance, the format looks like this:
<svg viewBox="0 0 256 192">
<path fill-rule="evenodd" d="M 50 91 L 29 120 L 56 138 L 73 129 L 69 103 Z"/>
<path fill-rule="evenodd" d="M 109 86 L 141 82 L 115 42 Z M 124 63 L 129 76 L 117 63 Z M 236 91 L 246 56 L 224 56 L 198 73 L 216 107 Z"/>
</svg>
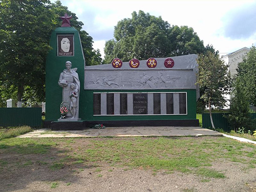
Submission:
<svg viewBox="0 0 256 192">
<path fill-rule="evenodd" d="M 52 32 L 46 63 L 46 122 L 53 130 L 105 126 L 198 126 L 197 55 L 131 58 L 86 66 L 67 14 Z"/>
</svg>

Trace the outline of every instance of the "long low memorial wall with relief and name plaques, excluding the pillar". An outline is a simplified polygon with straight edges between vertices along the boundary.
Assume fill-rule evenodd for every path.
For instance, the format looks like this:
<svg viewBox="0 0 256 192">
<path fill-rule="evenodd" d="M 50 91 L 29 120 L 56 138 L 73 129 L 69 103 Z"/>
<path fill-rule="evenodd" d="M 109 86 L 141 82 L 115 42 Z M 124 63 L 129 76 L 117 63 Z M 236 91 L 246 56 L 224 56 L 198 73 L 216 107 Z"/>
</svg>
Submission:
<svg viewBox="0 0 256 192">
<path fill-rule="evenodd" d="M 137 67 L 115 58 L 112 63 L 86 66 L 89 120 L 196 119 L 197 55 L 137 60 Z M 166 67 L 166 60 L 172 67 Z M 117 67 L 116 67 L 117 66 Z M 92 103 L 92 104 L 90 104 Z"/>
</svg>

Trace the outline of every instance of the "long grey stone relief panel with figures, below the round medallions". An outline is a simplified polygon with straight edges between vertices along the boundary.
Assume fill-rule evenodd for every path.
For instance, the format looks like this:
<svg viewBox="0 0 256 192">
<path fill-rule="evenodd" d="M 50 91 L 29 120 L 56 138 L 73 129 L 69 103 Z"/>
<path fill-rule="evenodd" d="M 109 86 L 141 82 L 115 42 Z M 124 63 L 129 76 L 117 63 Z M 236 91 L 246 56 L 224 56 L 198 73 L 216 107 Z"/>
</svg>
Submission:
<svg viewBox="0 0 256 192">
<path fill-rule="evenodd" d="M 196 89 L 196 73 L 185 70 L 86 70 L 84 89 Z"/>
</svg>

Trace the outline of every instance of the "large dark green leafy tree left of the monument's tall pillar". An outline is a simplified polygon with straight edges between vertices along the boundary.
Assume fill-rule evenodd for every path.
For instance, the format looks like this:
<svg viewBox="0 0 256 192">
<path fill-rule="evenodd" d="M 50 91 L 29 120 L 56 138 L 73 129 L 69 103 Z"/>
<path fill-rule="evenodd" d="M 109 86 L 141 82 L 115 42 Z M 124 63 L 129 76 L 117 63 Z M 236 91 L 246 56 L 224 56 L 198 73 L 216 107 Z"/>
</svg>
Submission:
<svg viewBox="0 0 256 192">
<path fill-rule="evenodd" d="M 44 81 L 44 61 L 50 46 L 53 18 L 48 1 L 2 1 L 0 4 L 1 79 L 17 88 L 22 100 L 26 85 L 39 87 Z"/>
</svg>

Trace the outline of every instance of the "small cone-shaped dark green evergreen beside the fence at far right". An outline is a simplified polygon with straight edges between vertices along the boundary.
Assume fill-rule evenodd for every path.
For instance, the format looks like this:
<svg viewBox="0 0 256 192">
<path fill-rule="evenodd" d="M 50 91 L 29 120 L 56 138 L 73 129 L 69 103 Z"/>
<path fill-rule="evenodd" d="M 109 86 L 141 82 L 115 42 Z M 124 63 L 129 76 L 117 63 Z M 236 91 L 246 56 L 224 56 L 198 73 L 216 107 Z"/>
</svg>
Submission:
<svg viewBox="0 0 256 192">
<path fill-rule="evenodd" d="M 230 114 L 227 116 L 228 122 L 236 132 L 238 128 L 242 129 L 242 127 L 246 131 L 253 131 L 254 127 L 251 120 L 249 101 L 238 79 L 234 81 L 233 87 L 230 99 Z"/>
</svg>

